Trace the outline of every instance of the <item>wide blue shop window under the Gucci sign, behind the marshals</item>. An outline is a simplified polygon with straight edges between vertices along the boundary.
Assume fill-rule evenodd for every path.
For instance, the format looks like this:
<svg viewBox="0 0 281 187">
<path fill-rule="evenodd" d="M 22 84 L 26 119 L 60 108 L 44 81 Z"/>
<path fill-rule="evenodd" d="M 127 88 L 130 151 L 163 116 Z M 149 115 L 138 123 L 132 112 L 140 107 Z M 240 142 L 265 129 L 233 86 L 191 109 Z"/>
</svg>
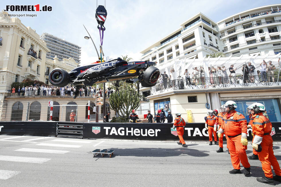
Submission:
<svg viewBox="0 0 281 187">
<path fill-rule="evenodd" d="M 281 121 L 281 114 L 280 114 L 280 107 L 278 105 L 277 99 L 253 99 L 253 100 L 233 100 L 237 103 L 237 112 L 243 114 L 247 122 L 249 122 L 249 114 L 247 111 L 247 107 L 253 103 L 262 103 L 266 107 L 266 111 L 269 117 L 269 120 L 274 121 Z M 225 104 L 227 101 L 221 101 L 221 104 Z"/>
</svg>

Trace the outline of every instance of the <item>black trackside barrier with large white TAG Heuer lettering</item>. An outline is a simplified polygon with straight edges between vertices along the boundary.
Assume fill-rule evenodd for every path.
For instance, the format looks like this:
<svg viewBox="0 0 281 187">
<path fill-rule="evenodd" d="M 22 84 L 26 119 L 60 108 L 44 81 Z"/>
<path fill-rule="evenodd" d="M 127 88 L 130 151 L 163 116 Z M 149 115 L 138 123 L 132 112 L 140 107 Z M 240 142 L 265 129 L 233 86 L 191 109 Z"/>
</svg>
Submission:
<svg viewBox="0 0 281 187">
<path fill-rule="evenodd" d="M 168 123 L 83 123 L 83 138 L 179 140 Z M 281 122 L 272 122 L 272 139 L 281 141 Z M 204 123 L 187 123 L 184 130 L 186 141 L 209 141 Z M 251 129 L 248 139 L 252 140 Z"/>
</svg>

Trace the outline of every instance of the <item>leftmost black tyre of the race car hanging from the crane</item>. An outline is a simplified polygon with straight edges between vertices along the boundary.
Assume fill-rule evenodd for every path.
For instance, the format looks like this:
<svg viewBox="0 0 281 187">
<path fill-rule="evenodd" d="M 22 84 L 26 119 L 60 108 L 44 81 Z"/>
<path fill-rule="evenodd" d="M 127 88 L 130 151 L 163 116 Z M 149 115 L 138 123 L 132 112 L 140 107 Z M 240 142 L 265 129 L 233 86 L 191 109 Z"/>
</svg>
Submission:
<svg viewBox="0 0 281 187">
<path fill-rule="evenodd" d="M 61 68 L 56 68 L 49 74 L 49 81 L 52 85 L 64 87 L 69 83 L 69 73 Z"/>
</svg>

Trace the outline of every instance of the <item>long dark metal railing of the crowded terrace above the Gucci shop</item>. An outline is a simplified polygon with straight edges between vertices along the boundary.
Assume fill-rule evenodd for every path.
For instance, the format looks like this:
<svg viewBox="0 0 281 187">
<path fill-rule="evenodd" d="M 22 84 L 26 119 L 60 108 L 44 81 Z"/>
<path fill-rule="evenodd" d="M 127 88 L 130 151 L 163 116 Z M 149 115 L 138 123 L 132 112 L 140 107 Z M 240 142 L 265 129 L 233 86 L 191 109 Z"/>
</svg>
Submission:
<svg viewBox="0 0 281 187">
<path fill-rule="evenodd" d="M 243 79 L 244 78 L 244 79 Z M 278 81 L 278 82 L 277 82 Z M 241 87 L 270 87 L 281 85 L 281 75 L 262 75 L 247 76 L 243 75 L 235 77 L 198 77 L 197 79 L 175 79 L 167 80 L 165 83 L 159 83 L 150 88 L 151 95 L 169 92 L 173 90 L 193 90 L 193 89 L 223 89 L 223 88 L 241 88 Z"/>
</svg>

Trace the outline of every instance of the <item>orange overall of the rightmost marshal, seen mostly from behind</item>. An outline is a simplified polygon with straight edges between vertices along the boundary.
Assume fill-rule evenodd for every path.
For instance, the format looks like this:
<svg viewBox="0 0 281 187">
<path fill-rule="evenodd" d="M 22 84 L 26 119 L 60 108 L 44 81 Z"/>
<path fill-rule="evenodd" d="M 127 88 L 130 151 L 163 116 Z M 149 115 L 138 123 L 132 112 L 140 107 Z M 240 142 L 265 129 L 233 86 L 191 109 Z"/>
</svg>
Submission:
<svg viewBox="0 0 281 187">
<path fill-rule="evenodd" d="M 281 170 L 279 163 L 273 153 L 272 137 L 270 136 L 272 124 L 268 118 L 266 118 L 262 112 L 253 115 L 252 124 L 253 133 L 255 136 L 262 137 L 262 151 L 257 152 L 259 156 L 259 161 L 262 163 L 262 170 L 264 170 L 264 175 L 268 178 L 272 178 L 271 166 L 276 175 L 281 176 Z M 255 143 L 255 141 L 253 141 Z"/>
</svg>

